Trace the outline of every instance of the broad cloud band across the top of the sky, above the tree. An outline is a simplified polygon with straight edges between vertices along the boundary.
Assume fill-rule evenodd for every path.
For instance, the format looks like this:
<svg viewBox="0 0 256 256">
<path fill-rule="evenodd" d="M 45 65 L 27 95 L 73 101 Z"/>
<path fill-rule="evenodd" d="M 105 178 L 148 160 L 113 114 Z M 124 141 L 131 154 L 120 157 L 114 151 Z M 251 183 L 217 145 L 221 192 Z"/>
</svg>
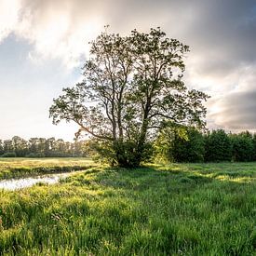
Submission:
<svg viewBox="0 0 256 256">
<path fill-rule="evenodd" d="M 88 52 L 87 42 L 110 24 L 127 34 L 162 26 L 192 47 L 195 72 L 232 71 L 238 61 L 255 60 L 254 1 L 1 0 L 0 37 L 15 33 L 34 45 L 31 55 L 61 58 L 74 65 Z M 230 61 L 230 60 L 233 61 Z M 222 68 L 221 68 L 222 67 Z"/>
</svg>

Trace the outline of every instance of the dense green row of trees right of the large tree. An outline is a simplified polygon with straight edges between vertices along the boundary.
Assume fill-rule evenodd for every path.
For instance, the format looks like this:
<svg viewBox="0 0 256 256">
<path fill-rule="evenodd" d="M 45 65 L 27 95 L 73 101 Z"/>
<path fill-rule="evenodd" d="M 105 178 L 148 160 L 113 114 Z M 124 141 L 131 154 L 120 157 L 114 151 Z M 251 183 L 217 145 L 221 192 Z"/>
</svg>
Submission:
<svg viewBox="0 0 256 256">
<path fill-rule="evenodd" d="M 256 161 L 256 134 L 207 133 L 196 128 L 165 128 L 155 141 L 155 159 L 171 162 Z"/>
</svg>

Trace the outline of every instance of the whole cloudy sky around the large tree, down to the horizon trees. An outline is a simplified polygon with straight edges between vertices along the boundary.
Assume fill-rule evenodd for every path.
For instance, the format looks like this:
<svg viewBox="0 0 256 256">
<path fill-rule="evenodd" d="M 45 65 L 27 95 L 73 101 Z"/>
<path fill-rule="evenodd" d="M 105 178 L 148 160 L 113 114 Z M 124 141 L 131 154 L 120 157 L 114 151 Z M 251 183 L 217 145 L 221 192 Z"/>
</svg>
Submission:
<svg viewBox="0 0 256 256">
<path fill-rule="evenodd" d="M 210 95 L 208 128 L 256 132 L 255 0 L 0 0 L 0 139 L 73 140 L 77 127 L 52 125 L 48 109 L 105 25 L 160 26 L 188 45 L 184 80 Z"/>
</svg>

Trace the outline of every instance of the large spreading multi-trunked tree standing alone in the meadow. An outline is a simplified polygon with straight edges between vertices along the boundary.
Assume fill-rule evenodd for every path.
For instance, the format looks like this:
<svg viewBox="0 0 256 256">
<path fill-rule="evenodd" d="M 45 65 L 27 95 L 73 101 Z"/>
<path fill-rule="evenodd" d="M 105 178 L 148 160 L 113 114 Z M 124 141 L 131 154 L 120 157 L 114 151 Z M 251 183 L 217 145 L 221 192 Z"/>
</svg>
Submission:
<svg viewBox="0 0 256 256">
<path fill-rule="evenodd" d="M 53 123 L 74 121 L 107 145 L 119 166 L 141 164 L 147 142 L 165 121 L 204 126 L 208 96 L 182 82 L 189 48 L 164 32 L 102 33 L 90 43 L 84 80 L 63 88 L 50 108 Z"/>
</svg>

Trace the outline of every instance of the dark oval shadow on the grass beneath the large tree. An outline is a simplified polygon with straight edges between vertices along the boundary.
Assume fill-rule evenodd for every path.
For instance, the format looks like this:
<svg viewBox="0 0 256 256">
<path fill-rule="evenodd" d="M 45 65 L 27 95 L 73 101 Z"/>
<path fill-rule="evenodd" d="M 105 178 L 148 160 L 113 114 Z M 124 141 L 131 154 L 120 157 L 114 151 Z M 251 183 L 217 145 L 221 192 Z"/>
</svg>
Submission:
<svg viewBox="0 0 256 256">
<path fill-rule="evenodd" d="M 177 169 L 159 170 L 153 167 L 141 168 L 107 168 L 99 172 L 93 180 L 104 187 L 124 190 L 146 190 L 157 187 L 180 186 L 186 189 L 212 182 L 213 179 L 189 171 Z"/>
</svg>

